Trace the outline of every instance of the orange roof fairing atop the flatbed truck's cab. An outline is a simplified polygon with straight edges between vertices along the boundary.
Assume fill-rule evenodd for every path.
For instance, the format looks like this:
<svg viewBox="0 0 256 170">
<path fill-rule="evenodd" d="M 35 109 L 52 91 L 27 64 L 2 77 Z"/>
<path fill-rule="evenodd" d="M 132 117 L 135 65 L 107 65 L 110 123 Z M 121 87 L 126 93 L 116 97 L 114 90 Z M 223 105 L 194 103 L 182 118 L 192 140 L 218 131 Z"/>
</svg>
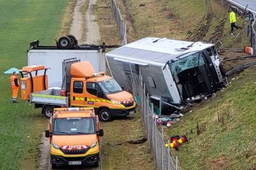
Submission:
<svg viewBox="0 0 256 170">
<path fill-rule="evenodd" d="M 81 61 L 71 65 L 70 73 L 72 77 L 86 77 L 95 73 L 95 70 L 89 61 Z"/>
</svg>

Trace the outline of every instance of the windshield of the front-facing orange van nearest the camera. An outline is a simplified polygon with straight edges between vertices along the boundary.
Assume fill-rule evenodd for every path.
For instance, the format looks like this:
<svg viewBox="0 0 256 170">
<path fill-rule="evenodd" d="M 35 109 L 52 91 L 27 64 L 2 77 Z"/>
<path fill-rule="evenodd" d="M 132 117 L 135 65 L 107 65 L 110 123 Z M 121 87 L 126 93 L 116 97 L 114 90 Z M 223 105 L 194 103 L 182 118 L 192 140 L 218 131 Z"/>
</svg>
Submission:
<svg viewBox="0 0 256 170">
<path fill-rule="evenodd" d="M 93 118 L 60 118 L 54 120 L 54 134 L 95 134 Z"/>
</svg>

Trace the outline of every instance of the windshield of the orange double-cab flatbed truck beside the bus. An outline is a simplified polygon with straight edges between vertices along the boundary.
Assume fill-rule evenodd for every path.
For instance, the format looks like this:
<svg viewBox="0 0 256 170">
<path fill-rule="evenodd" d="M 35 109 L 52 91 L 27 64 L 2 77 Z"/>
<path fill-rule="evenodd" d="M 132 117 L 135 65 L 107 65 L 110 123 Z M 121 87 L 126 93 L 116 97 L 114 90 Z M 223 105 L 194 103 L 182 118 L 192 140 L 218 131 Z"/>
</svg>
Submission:
<svg viewBox="0 0 256 170">
<path fill-rule="evenodd" d="M 122 88 L 115 81 L 115 79 L 108 79 L 106 81 L 99 82 L 99 86 L 106 94 L 118 93 L 122 91 Z"/>
</svg>

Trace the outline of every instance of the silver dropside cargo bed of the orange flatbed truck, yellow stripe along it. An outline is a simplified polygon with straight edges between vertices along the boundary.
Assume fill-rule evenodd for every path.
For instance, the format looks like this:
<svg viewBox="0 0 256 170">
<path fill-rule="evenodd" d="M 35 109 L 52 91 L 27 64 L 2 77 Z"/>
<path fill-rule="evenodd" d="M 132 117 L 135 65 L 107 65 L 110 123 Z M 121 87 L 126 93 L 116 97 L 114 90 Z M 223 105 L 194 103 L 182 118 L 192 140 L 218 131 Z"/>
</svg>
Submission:
<svg viewBox="0 0 256 170">
<path fill-rule="evenodd" d="M 68 97 L 60 95 L 60 89 L 47 89 L 30 94 L 30 103 L 68 106 Z"/>
</svg>

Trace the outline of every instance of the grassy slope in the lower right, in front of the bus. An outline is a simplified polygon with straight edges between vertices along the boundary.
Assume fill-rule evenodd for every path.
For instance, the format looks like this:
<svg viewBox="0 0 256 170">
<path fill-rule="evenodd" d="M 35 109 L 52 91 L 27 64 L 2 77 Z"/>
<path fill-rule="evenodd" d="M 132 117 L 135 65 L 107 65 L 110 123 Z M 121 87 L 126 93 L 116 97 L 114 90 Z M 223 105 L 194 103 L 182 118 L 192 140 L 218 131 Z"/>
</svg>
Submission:
<svg viewBox="0 0 256 170">
<path fill-rule="evenodd" d="M 210 102 L 185 114 L 168 136 L 187 134 L 177 151 L 183 169 L 253 169 L 256 163 L 255 66 L 237 75 Z M 218 121 L 218 112 L 224 121 Z M 196 134 L 196 125 L 205 131 Z"/>
</svg>

